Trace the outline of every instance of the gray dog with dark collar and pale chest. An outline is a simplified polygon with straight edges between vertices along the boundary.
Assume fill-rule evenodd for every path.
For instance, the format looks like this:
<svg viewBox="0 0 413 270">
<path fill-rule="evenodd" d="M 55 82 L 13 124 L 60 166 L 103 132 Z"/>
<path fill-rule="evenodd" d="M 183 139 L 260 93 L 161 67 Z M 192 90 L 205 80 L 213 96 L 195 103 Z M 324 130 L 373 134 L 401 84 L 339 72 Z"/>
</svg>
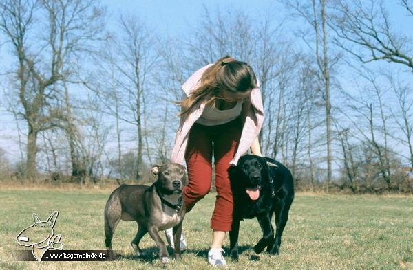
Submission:
<svg viewBox="0 0 413 270">
<path fill-rule="evenodd" d="M 138 256 L 142 255 L 140 239 L 146 233 L 155 240 L 164 263 L 169 262 L 169 254 L 158 232 L 173 227 L 173 240 L 180 243 L 185 215 L 182 200 L 182 188 L 187 185 L 185 168 L 180 164 L 165 164 L 153 166 L 151 171 L 158 177 L 153 185 L 123 184 L 109 196 L 105 207 L 105 244 L 112 260 L 112 236 L 120 219 L 138 223 L 138 232 L 131 242 Z M 180 245 L 175 245 L 174 258 L 180 258 Z"/>
</svg>

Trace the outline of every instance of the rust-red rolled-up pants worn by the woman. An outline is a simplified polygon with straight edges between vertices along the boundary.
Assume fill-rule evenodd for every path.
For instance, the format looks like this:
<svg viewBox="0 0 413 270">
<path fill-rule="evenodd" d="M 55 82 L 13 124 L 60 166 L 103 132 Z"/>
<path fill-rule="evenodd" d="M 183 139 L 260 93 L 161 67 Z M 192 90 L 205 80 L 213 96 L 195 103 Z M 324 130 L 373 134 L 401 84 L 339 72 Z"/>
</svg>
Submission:
<svg viewBox="0 0 413 270">
<path fill-rule="evenodd" d="M 189 132 L 185 153 L 189 184 L 184 188 L 187 212 L 211 190 L 213 155 L 217 196 L 211 228 L 217 231 L 231 231 L 233 196 L 228 168 L 240 142 L 241 132 L 240 118 L 217 126 L 195 123 Z"/>
</svg>

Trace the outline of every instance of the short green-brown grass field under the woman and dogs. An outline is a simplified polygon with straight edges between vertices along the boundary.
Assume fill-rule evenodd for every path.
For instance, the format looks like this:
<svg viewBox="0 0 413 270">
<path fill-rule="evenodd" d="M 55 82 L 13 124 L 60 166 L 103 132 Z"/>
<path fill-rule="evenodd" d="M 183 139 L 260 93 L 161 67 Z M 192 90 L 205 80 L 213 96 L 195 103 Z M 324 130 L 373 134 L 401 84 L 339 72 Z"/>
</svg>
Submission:
<svg viewBox="0 0 413 270">
<path fill-rule="evenodd" d="M 16 262 L 15 237 L 31 225 L 32 213 L 41 220 L 59 211 L 56 234 L 64 249 L 105 249 L 103 207 L 110 191 L 0 190 L 0 269 L 210 269 L 207 251 L 209 218 L 215 194 L 209 194 L 187 214 L 184 232 L 189 249 L 182 260 L 162 265 L 149 236 L 142 245 L 145 260 L 136 258 L 129 243 L 136 223 L 120 222 L 112 262 Z M 162 234 L 163 237 L 163 234 Z M 243 221 L 239 262 L 227 260 L 224 269 L 413 269 L 413 196 L 348 196 L 297 194 L 290 210 L 279 256 L 255 255 L 261 237 L 257 221 Z M 229 239 L 225 250 L 228 253 Z"/>
</svg>

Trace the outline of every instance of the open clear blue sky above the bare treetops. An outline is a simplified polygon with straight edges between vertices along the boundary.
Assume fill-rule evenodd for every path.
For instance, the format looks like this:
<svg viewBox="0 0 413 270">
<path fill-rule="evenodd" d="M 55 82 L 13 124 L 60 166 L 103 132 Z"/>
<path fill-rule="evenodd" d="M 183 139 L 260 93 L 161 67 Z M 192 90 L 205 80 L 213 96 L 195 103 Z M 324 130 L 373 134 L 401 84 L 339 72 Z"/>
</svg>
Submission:
<svg viewBox="0 0 413 270">
<path fill-rule="evenodd" d="M 392 23 L 401 32 L 413 35 L 412 20 L 406 16 L 406 12 L 399 5 L 400 1 L 385 1 L 385 7 L 389 10 Z M 113 18 L 120 12 L 129 12 L 147 22 L 159 34 L 176 34 L 184 31 L 187 27 L 196 25 L 202 16 L 203 6 L 209 10 L 240 9 L 251 12 L 255 18 L 270 12 L 277 19 L 287 16 L 285 8 L 276 0 L 104 0 L 109 16 Z M 408 27 L 410 25 L 410 27 Z"/>
</svg>

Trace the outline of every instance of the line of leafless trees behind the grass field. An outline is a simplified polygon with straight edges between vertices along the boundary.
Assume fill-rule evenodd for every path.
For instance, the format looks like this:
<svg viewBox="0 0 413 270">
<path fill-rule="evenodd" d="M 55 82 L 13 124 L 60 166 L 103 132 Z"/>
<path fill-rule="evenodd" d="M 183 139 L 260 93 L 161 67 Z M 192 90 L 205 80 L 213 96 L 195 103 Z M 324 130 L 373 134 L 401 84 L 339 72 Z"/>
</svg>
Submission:
<svg viewBox="0 0 413 270">
<path fill-rule="evenodd" d="M 412 1 L 281 7 L 204 8 L 168 36 L 95 0 L 1 1 L 0 102 L 15 131 L 3 136 L 16 145 L 0 146 L 1 179 L 146 181 L 169 159 L 180 85 L 230 54 L 260 80 L 262 152 L 298 189 L 412 192 L 413 40 L 394 26 L 412 23 Z"/>
</svg>

